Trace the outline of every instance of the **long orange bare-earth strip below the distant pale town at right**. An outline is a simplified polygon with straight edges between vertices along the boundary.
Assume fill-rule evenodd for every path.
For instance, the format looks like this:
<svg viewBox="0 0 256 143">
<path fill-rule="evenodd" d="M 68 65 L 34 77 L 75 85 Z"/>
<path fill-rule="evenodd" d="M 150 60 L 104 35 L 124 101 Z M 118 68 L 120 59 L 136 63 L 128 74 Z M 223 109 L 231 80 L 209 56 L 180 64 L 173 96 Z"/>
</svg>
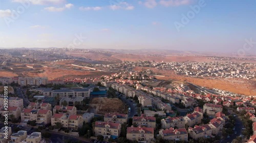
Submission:
<svg viewBox="0 0 256 143">
<path fill-rule="evenodd" d="M 208 77 L 196 78 L 188 77 L 185 75 L 176 75 L 173 71 L 156 70 L 155 68 L 148 68 L 155 73 L 165 75 L 165 77 L 157 77 L 162 80 L 177 80 L 190 82 L 201 87 L 216 88 L 220 90 L 230 91 L 242 95 L 256 95 L 256 81 L 247 80 L 241 78 L 216 78 L 210 79 Z M 136 67 L 135 70 L 140 70 L 140 67 Z"/>
</svg>

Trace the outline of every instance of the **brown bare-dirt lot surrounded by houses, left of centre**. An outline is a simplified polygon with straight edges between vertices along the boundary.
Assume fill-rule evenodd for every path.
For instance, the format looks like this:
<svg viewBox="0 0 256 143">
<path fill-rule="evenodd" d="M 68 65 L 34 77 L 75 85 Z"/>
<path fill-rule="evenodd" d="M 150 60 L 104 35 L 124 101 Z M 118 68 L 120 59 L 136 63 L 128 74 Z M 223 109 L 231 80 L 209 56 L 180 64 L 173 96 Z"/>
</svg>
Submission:
<svg viewBox="0 0 256 143">
<path fill-rule="evenodd" d="M 95 113 L 100 114 L 109 112 L 126 113 L 125 105 L 118 98 L 93 98 L 90 103 L 90 108 L 93 108 Z"/>
</svg>

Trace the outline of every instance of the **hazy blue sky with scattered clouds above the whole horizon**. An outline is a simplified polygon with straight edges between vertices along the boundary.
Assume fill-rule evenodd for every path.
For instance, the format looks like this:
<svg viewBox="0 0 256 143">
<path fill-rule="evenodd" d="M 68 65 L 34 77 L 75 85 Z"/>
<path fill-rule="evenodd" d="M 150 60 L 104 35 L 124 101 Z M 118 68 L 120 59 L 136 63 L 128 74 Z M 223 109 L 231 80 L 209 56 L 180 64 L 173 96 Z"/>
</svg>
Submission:
<svg viewBox="0 0 256 143">
<path fill-rule="evenodd" d="M 252 0 L 0 0 L 0 47 L 6 48 L 237 52 L 245 39 L 256 41 L 255 30 Z M 77 42 L 76 35 L 86 39 Z"/>
</svg>

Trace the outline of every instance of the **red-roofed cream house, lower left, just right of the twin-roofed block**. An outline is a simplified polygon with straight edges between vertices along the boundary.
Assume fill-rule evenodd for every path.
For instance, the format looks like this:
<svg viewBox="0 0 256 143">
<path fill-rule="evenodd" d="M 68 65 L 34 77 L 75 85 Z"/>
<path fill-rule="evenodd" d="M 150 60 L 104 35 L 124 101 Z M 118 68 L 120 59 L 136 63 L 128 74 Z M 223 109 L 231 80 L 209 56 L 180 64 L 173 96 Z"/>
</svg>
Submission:
<svg viewBox="0 0 256 143">
<path fill-rule="evenodd" d="M 83 124 L 83 118 L 79 115 L 65 115 L 62 113 L 54 113 L 51 118 L 51 125 L 54 126 L 59 122 L 66 128 L 80 128 Z"/>
</svg>

